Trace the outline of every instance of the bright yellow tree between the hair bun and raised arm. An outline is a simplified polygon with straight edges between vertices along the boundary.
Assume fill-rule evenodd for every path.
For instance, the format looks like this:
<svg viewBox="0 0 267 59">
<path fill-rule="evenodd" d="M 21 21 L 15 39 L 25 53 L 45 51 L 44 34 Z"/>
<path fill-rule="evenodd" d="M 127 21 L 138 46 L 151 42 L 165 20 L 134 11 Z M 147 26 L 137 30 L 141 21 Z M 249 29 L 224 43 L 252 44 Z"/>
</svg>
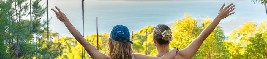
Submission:
<svg viewBox="0 0 267 59">
<path fill-rule="evenodd" d="M 184 14 L 182 20 L 176 20 L 171 29 L 174 40 L 170 42 L 170 48 L 177 47 L 179 49 L 187 47 L 203 30 L 189 14 Z"/>
</svg>

